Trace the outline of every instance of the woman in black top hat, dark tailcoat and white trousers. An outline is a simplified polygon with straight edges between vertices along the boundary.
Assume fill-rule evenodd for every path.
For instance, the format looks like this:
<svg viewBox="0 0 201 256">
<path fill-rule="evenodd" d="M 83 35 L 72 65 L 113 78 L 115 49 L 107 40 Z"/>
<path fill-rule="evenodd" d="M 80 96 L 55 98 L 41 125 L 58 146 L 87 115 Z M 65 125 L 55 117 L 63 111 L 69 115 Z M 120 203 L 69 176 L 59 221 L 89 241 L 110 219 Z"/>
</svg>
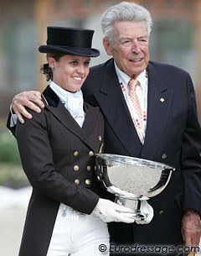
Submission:
<svg viewBox="0 0 201 256">
<path fill-rule="evenodd" d="M 100 198 L 106 192 L 94 175 L 104 123 L 99 108 L 83 102 L 80 91 L 90 57 L 100 55 L 91 48 L 93 33 L 49 27 L 47 45 L 39 47 L 48 59 L 41 69 L 50 80 L 45 107 L 15 131 L 33 186 L 19 256 L 102 255 L 99 246 L 109 248 L 106 222 L 134 222 L 125 207 Z"/>
</svg>

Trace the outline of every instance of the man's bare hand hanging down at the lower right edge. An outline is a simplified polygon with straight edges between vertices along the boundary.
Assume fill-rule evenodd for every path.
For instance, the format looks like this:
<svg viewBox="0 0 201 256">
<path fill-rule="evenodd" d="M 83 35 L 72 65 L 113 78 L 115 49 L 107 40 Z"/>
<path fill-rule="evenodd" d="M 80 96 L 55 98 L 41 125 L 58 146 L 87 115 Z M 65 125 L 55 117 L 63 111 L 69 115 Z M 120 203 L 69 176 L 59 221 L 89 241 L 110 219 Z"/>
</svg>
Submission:
<svg viewBox="0 0 201 256">
<path fill-rule="evenodd" d="M 185 210 L 182 220 L 182 235 L 186 246 L 198 246 L 201 236 L 201 223 L 198 212 Z"/>
</svg>

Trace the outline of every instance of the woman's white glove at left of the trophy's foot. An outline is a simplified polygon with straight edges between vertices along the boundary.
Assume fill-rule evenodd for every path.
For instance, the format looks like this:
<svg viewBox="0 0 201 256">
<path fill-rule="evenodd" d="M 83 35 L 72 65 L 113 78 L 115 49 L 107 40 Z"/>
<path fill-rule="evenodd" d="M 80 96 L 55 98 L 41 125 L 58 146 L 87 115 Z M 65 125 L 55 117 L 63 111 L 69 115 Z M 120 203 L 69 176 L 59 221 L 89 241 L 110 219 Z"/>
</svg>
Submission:
<svg viewBox="0 0 201 256">
<path fill-rule="evenodd" d="M 100 217 L 103 222 L 135 222 L 133 211 L 115 202 L 100 198 L 91 214 Z"/>
</svg>

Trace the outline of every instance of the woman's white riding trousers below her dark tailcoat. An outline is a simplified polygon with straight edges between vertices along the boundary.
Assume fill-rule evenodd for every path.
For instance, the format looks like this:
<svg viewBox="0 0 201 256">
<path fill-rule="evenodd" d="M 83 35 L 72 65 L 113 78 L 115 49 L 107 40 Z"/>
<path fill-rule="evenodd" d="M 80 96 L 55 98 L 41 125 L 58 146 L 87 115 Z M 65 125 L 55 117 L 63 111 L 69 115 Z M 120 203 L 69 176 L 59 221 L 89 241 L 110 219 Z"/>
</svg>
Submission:
<svg viewBox="0 0 201 256">
<path fill-rule="evenodd" d="M 106 222 L 61 203 L 47 256 L 108 256 L 109 240 Z"/>
</svg>

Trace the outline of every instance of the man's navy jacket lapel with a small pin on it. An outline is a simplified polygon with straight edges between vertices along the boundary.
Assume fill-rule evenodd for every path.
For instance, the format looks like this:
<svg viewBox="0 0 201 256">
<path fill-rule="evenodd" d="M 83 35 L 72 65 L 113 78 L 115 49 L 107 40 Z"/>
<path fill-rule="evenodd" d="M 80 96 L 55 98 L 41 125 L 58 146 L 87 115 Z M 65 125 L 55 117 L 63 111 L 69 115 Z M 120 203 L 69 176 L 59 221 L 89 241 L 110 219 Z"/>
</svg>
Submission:
<svg viewBox="0 0 201 256">
<path fill-rule="evenodd" d="M 152 63 L 148 65 L 147 129 L 141 157 L 153 159 L 162 139 L 173 98 L 173 90 Z M 151 149 L 151 150 L 150 150 Z"/>
</svg>

